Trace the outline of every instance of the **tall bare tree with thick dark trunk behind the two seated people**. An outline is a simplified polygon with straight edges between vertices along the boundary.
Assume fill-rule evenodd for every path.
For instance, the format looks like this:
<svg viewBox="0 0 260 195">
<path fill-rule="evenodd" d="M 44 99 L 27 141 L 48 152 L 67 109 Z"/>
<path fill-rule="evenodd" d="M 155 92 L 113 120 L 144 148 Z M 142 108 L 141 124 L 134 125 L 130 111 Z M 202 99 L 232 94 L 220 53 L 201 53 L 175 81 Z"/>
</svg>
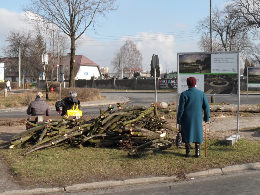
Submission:
<svg viewBox="0 0 260 195">
<path fill-rule="evenodd" d="M 90 25 L 97 24 L 98 16 L 105 16 L 110 10 L 116 10 L 115 0 L 31 0 L 23 6 L 27 21 L 54 23 L 60 31 L 70 37 L 70 81 L 74 85 L 75 41 L 81 37 Z"/>
</svg>

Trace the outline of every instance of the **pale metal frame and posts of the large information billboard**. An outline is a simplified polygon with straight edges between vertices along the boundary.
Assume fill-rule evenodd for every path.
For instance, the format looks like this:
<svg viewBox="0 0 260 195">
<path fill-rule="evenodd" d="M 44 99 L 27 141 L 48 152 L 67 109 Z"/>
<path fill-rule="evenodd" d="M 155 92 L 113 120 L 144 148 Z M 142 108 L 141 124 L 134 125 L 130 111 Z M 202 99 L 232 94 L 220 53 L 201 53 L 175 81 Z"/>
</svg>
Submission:
<svg viewBox="0 0 260 195">
<path fill-rule="evenodd" d="M 235 96 L 237 97 L 237 134 L 236 134 L 236 140 L 235 142 L 238 141 L 238 130 L 239 130 L 239 105 L 240 105 L 240 53 L 238 51 L 234 52 L 183 52 L 183 53 L 177 53 L 177 102 L 176 102 L 176 113 L 178 113 L 178 106 L 179 106 L 179 85 L 180 85 L 180 76 L 179 76 L 179 55 L 185 55 L 185 54 L 237 54 L 237 94 L 206 94 L 206 96 Z M 225 73 L 216 73 L 216 74 L 223 74 Z M 235 75 L 236 73 L 233 73 Z M 194 74 L 189 74 L 187 73 L 186 75 L 194 76 Z M 203 73 L 200 73 L 200 75 L 205 75 Z M 183 90 L 182 90 L 183 91 Z M 176 128 L 178 128 L 178 124 L 176 124 Z"/>
</svg>

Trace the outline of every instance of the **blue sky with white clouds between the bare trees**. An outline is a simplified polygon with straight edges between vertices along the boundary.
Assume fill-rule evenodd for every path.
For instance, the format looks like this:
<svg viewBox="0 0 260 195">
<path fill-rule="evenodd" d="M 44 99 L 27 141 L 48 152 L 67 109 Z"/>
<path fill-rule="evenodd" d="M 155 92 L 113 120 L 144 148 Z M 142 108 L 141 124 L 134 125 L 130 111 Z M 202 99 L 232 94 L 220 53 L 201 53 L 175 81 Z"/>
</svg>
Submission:
<svg viewBox="0 0 260 195">
<path fill-rule="evenodd" d="M 12 30 L 30 28 L 19 20 L 21 5 L 29 0 L 9 0 L 0 4 L 0 45 Z M 143 70 L 150 70 L 151 56 L 159 55 L 161 73 L 177 70 L 178 52 L 199 52 L 195 34 L 199 19 L 209 16 L 209 0 L 117 0 L 117 11 L 109 12 L 107 19 L 99 18 L 102 26 L 88 30 L 87 41 L 76 48 L 100 67 L 113 68 L 110 64 L 114 52 L 130 38 L 143 56 Z M 224 0 L 212 0 L 212 7 L 222 7 Z M 68 51 L 70 52 L 69 48 Z"/>
</svg>

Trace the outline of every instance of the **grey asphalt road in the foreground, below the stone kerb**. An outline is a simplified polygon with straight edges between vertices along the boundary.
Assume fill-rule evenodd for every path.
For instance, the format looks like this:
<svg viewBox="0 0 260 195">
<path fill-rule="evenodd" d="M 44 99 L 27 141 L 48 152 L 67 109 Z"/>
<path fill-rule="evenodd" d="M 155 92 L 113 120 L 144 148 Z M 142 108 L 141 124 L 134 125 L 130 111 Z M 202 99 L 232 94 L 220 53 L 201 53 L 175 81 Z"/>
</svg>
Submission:
<svg viewBox="0 0 260 195">
<path fill-rule="evenodd" d="M 149 185 L 124 186 L 113 189 L 87 190 L 85 192 L 55 193 L 67 195 L 252 195 L 260 192 L 260 170 L 218 175 L 180 182 L 163 182 Z"/>
</svg>

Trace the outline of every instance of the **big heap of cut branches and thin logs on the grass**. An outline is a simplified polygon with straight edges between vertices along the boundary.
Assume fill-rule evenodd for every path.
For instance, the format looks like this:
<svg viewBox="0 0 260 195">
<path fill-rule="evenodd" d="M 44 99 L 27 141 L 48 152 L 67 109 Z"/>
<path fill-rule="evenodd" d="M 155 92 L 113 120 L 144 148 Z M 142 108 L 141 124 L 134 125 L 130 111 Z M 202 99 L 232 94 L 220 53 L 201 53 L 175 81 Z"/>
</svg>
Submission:
<svg viewBox="0 0 260 195">
<path fill-rule="evenodd" d="M 157 117 L 155 107 L 125 106 L 117 110 L 110 106 L 100 110 L 100 115 L 90 120 L 60 119 L 34 124 L 27 121 L 33 128 L 15 135 L 11 146 L 25 144 L 27 149 L 23 155 L 33 151 L 70 144 L 81 148 L 84 146 L 109 147 L 119 146 L 128 154 L 138 157 L 172 146 L 177 129 L 167 124 L 164 118 Z"/>
</svg>

